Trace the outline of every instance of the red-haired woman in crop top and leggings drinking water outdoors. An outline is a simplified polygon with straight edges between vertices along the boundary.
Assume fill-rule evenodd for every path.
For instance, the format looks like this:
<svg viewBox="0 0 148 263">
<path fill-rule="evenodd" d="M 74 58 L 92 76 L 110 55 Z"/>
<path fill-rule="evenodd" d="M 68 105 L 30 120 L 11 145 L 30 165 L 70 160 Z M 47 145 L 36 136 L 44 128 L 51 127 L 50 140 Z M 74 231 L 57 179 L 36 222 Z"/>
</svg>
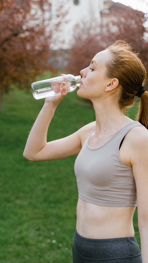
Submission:
<svg viewBox="0 0 148 263">
<path fill-rule="evenodd" d="M 47 129 L 66 95 L 45 99 L 24 150 L 30 161 L 78 154 L 79 191 L 73 262 L 148 262 L 148 92 L 146 70 L 124 41 L 97 53 L 80 71 L 78 96 L 92 101 L 96 121 L 72 135 L 46 141 Z M 124 115 L 135 96 L 141 99 L 138 121 Z M 136 192 L 137 191 L 137 192 Z M 138 203 L 141 252 L 134 237 Z"/>
</svg>

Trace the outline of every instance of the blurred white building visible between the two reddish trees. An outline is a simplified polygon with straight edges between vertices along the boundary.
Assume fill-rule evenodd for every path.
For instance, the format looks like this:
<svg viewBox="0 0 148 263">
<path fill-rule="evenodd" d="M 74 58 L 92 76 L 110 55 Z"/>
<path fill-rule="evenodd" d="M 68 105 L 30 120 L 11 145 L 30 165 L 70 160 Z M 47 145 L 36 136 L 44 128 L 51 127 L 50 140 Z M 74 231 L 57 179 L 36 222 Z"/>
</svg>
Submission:
<svg viewBox="0 0 148 263">
<path fill-rule="evenodd" d="M 112 0 L 51 0 L 51 19 L 54 19 L 56 7 L 60 4 L 65 6 L 68 13 L 65 20 L 68 21 L 60 32 L 60 41 L 53 46 L 53 49 L 68 49 L 72 35 L 79 29 L 81 20 L 89 22 L 95 17 L 98 22 L 101 21 L 101 12 L 107 11 L 108 6 L 113 3 Z"/>
</svg>

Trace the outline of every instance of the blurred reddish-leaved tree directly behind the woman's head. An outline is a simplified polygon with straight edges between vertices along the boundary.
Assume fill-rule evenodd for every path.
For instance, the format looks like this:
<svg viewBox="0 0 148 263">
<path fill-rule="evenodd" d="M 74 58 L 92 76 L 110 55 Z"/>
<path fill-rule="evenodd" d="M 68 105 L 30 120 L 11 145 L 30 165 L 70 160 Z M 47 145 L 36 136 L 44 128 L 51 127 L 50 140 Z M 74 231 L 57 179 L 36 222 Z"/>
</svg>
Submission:
<svg viewBox="0 0 148 263">
<path fill-rule="evenodd" d="M 102 13 L 100 24 L 92 19 L 91 23 L 82 21 L 77 36 L 71 41 L 68 70 L 80 74 L 80 69 L 90 64 L 93 56 L 105 49 L 109 44 L 122 39 L 133 46 L 134 51 L 141 54 L 142 61 L 148 61 L 148 42 L 143 35 L 144 14 L 120 3 L 113 3 L 108 14 Z M 146 64 L 148 70 L 148 64 Z"/>
</svg>

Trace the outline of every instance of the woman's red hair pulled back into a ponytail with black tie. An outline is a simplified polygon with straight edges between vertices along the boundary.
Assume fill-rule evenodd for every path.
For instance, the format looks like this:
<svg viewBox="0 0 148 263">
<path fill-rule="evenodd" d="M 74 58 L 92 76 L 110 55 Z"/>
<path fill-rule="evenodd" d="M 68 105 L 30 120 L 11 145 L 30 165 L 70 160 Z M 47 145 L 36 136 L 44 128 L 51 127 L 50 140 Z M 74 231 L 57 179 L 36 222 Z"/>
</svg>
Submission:
<svg viewBox="0 0 148 263">
<path fill-rule="evenodd" d="M 146 69 L 140 60 L 138 53 L 132 51 L 132 47 L 123 40 L 117 40 L 107 47 L 112 53 L 112 59 L 106 62 L 106 77 L 117 78 L 120 89 L 119 106 L 125 109 L 134 103 L 135 94 L 146 82 Z M 148 128 L 148 92 L 140 97 L 140 110 L 138 121 Z"/>
</svg>

